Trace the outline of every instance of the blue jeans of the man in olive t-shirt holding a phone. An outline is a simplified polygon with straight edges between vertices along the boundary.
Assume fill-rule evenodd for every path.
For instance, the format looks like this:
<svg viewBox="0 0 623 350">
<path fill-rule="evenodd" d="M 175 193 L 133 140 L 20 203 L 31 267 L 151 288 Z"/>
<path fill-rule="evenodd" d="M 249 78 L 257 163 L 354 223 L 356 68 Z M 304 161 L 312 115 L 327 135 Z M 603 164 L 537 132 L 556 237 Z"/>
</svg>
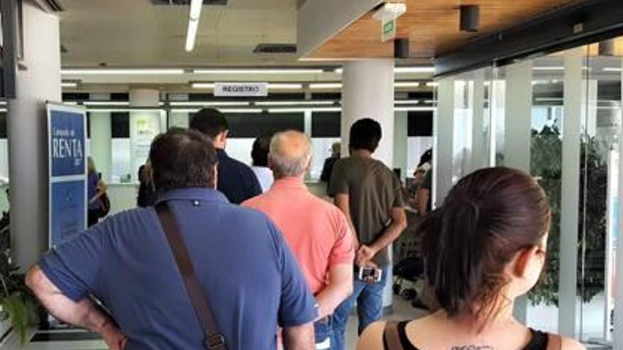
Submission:
<svg viewBox="0 0 623 350">
<path fill-rule="evenodd" d="M 333 313 L 333 332 L 335 333 L 336 345 L 333 349 L 345 349 L 345 332 L 348 323 L 348 314 L 357 301 L 357 315 L 359 318 L 359 334 L 370 323 L 381 319 L 383 314 L 383 290 L 387 282 L 387 267 L 383 267 L 381 281 L 375 284 L 367 284 L 358 279 L 359 269 L 355 269 L 355 282 L 353 294 L 338 306 Z"/>
</svg>

